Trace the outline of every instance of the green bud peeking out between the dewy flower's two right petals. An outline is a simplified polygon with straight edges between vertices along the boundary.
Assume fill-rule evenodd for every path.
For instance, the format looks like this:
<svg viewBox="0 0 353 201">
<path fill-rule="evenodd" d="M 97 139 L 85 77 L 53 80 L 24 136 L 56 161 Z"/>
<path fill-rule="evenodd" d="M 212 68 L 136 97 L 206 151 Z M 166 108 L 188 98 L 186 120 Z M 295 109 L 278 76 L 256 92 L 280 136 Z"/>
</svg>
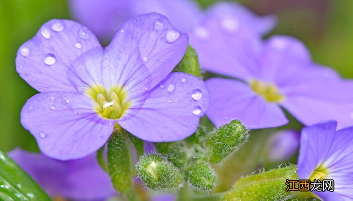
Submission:
<svg viewBox="0 0 353 201">
<path fill-rule="evenodd" d="M 184 57 L 175 67 L 174 72 L 185 72 L 197 77 L 201 77 L 200 64 L 194 48 L 188 45 Z"/>
</svg>

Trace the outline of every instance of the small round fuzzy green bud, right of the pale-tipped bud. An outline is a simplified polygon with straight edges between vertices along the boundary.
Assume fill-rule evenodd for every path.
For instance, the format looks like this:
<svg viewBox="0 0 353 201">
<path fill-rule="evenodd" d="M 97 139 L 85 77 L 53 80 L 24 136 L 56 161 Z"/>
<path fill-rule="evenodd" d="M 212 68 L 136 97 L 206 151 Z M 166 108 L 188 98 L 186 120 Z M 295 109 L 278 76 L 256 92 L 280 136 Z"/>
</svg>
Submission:
<svg viewBox="0 0 353 201">
<path fill-rule="evenodd" d="M 197 190 L 211 190 L 217 184 L 217 175 L 207 163 L 196 163 L 186 171 L 189 183 Z"/>
</svg>

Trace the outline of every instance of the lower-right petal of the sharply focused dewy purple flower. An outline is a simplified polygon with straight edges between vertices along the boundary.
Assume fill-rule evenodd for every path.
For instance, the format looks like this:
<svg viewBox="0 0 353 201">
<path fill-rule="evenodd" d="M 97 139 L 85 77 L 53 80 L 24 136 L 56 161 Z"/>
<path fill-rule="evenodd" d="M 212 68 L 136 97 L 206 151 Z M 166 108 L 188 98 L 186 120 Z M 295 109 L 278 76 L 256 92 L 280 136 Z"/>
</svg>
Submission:
<svg viewBox="0 0 353 201">
<path fill-rule="evenodd" d="M 118 123 L 133 135 L 150 142 L 182 140 L 197 128 L 209 104 L 205 83 L 192 75 L 171 73 L 156 86 L 138 113 Z"/>
</svg>

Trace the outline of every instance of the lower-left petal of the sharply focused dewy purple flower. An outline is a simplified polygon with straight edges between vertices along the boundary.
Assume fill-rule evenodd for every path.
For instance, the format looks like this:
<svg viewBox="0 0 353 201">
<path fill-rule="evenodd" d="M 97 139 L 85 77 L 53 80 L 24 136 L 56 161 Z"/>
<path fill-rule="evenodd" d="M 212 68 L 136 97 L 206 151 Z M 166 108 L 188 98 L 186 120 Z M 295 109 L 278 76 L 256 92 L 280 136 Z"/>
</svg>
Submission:
<svg viewBox="0 0 353 201">
<path fill-rule="evenodd" d="M 80 93 L 40 93 L 21 111 L 21 123 L 46 155 L 69 160 L 87 156 L 105 144 L 114 121 L 93 110 L 94 101 Z"/>
</svg>

